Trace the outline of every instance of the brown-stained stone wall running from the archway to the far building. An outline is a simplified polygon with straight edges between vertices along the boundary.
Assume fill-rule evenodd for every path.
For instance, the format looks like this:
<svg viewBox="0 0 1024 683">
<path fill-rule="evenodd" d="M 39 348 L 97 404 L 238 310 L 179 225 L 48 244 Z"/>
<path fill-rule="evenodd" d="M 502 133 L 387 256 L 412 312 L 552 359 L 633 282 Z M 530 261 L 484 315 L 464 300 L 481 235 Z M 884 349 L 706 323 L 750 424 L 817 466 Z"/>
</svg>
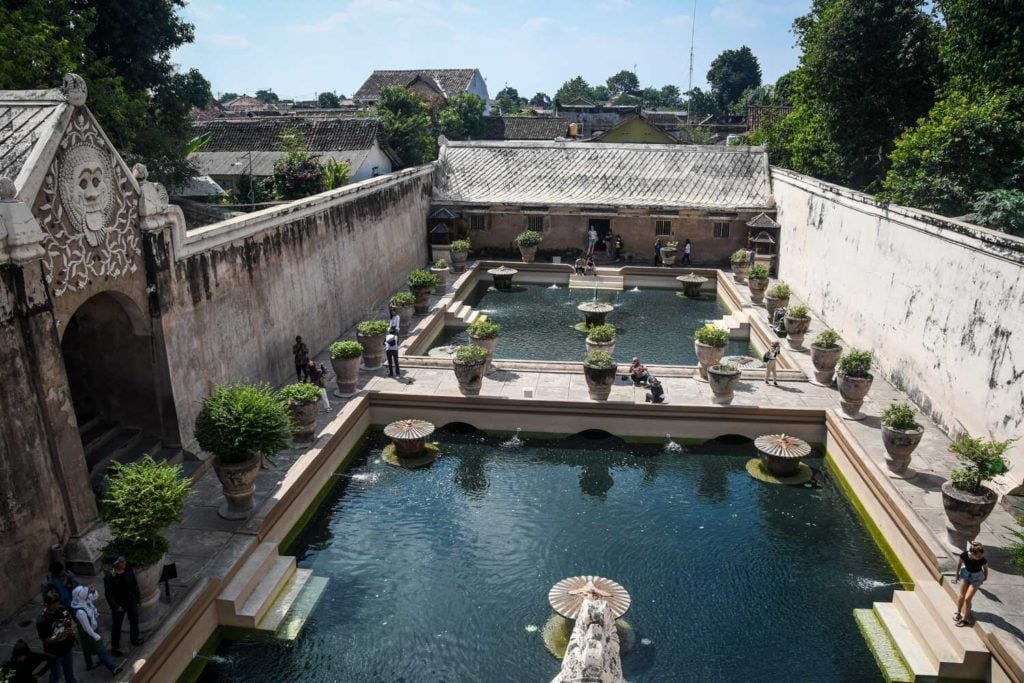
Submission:
<svg viewBox="0 0 1024 683">
<path fill-rule="evenodd" d="M 432 176 L 420 167 L 174 231 L 158 282 L 186 447 L 198 451 L 193 425 L 213 385 L 294 378 L 296 335 L 315 353 L 426 264 Z"/>
</svg>

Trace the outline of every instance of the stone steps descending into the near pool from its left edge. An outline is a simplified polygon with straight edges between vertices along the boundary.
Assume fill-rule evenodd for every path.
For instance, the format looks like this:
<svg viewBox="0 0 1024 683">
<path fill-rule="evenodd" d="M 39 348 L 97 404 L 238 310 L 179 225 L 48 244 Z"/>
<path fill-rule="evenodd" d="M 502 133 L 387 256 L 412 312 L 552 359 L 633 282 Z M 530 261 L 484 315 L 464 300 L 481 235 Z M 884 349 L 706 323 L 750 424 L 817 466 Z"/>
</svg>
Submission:
<svg viewBox="0 0 1024 683">
<path fill-rule="evenodd" d="M 279 555 L 276 545 L 261 543 L 217 596 L 217 616 L 222 626 L 295 640 L 327 583 L 296 568 L 295 558 Z"/>
</svg>

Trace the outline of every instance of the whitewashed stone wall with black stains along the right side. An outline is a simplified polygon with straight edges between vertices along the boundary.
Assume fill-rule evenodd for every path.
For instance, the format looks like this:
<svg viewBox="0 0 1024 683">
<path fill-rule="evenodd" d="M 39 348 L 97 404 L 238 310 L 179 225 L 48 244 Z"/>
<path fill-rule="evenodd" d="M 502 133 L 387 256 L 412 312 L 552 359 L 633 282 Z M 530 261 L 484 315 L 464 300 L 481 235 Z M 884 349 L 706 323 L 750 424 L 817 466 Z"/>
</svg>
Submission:
<svg viewBox="0 0 1024 683">
<path fill-rule="evenodd" d="M 779 273 L 951 433 L 1024 436 L 1024 240 L 772 169 Z M 1024 480 L 1015 445 L 1012 478 Z"/>
</svg>

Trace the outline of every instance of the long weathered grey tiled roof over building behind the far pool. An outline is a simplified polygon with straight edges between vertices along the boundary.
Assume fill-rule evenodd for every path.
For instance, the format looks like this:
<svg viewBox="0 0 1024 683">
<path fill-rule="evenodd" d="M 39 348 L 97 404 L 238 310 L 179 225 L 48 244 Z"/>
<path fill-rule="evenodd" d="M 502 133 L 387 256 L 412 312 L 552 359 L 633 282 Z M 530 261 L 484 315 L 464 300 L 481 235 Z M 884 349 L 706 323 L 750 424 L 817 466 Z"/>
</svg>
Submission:
<svg viewBox="0 0 1024 683">
<path fill-rule="evenodd" d="M 763 147 L 606 142 L 449 142 L 439 203 L 712 209 L 772 206 Z"/>
</svg>

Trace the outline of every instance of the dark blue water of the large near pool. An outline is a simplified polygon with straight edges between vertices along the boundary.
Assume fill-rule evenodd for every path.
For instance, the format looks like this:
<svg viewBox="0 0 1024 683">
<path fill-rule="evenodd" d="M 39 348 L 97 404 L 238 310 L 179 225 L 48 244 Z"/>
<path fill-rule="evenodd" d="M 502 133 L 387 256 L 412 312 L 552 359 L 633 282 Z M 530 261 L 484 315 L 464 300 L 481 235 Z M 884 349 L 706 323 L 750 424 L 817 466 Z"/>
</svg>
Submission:
<svg viewBox="0 0 1024 683">
<path fill-rule="evenodd" d="M 791 487 L 746 474 L 749 443 L 437 436 L 404 470 L 369 435 L 282 549 L 330 579 L 305 631 L 224 640 L 202 680 L 547 681 L 547 593 L 581 573 L 632 595 L 631 682 L 879 680 L 852 610 L 897 578 L 827 468 Z"/>
</svg>

